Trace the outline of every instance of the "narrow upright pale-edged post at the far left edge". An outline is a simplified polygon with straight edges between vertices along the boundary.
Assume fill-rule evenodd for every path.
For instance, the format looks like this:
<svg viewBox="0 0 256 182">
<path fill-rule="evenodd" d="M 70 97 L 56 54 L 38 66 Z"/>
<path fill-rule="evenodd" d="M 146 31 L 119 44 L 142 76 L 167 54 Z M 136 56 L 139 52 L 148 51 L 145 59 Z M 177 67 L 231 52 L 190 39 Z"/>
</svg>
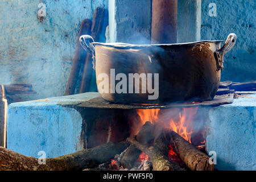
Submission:
<svg viewBox="0 0 256 182">
<path fill-rule="evenodd" d="M 6 148 L 7 100 L 5 87 L 0 84 L 0 146 Z"/>
</svg>

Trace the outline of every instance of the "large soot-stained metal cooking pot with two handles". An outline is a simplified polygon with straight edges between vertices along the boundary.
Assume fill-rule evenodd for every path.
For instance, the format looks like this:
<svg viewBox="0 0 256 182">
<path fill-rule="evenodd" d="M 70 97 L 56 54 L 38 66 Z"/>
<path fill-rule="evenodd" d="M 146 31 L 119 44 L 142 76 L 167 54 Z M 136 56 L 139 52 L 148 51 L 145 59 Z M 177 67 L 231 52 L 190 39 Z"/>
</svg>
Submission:
<svg viewBox="0 0 256 182">
<path fill-rule="evenodd" d="M 97 86 L 98 90 L 101 90 L 102 98 L 115 103 L 166 104 L 176 101 L 212 100 L 220 84 L 224 55 L 234 46 L 236 39 L 236 34 L 229 34 L 222 47 L 222 40 L 134 45 L 97 43 L 91 36 L 82 35 L 80 44 L 93 55 Z M 102 73 L 108 76 L 107 82 L 104 83 L 109 83 L 103 87 Z M 129 93 L 131 86 L 135 88 L 139 84 L 145 87 L 142 80 L 139 83 L 134 80 L 130 85 L 127 81 L 129 87 L 127 93 L 115 92 L 115 85 L 122 80 L 120 75 L 114 80 L 113 74 L 116 76 L 118 73 L 125 74 L 127 79 L 129 73 L 139 75 L 143 73 L 146 76 L 148 76 L 147 73 L 152 73 L 152 83 L 155 84 L 155 88 L 159 84 L 159 97 L 149 99 L 148 96 L 152 96 L 153 93 L 148 90 L 146 93 L 142 92 L 142 87 L 139 93 L 138 90 L 133 90 L 135 93 Z M 158 73 L 158 80 L 154 73 Z M 150 77 L 146 78 L 150 79 Z M 111 81 L 112 85 L 110 85 Z M 103 93 L 102 88 L 106 87 L 108 92 Z"/>
</svg>

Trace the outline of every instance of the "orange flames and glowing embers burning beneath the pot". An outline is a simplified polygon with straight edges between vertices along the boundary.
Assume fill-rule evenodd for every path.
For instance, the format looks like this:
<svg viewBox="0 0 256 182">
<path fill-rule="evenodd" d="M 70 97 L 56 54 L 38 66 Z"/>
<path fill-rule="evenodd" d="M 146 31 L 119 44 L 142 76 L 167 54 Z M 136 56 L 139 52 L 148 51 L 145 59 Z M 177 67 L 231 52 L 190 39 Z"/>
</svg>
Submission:
<svg viewBox="0 0 256 182">
<path fill-rule="evenodd" d="M 141 118 L 141 126 L 143 126 L 146 121 L 149 121 L 157 127 L 160 126 L 163 127 L 163 129 L 171 129 L 172 131 L 175 131 L 177 134 L 191 143 L 191 134 L 194 132 L 193 119 L 195 119 L 197 109 L 198 107 L 183 107 L 182 109 L 172 108 L 163 110 L 137 109 L 137 114 L 139 115 L 139 118 Z M 135 133 L 138 133 L 138 131 Z M 199 143 L 204 144 L 205 140 L 204 142 Z M 169 146 L 168 158 L 181 165 L 183 164 L 175 153 L 171 144 Z M 148 159 L 148 156 L 142 152 L 138 158 L 138 161 L 143 162 L 146 159 Z"/>
</svg>

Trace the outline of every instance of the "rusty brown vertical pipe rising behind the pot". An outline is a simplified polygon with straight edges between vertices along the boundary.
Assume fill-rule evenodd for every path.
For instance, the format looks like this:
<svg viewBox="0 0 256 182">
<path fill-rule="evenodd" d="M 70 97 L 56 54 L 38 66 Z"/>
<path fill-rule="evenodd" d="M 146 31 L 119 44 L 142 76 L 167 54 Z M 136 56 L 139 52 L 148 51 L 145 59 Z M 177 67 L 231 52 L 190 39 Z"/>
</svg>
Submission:
<svg viewBox="0 0 256 182">
<path fill-rule="evenodd" d="M 177 0 L 152 0 L 151 43 L 177 42 Z"/>
</svg>

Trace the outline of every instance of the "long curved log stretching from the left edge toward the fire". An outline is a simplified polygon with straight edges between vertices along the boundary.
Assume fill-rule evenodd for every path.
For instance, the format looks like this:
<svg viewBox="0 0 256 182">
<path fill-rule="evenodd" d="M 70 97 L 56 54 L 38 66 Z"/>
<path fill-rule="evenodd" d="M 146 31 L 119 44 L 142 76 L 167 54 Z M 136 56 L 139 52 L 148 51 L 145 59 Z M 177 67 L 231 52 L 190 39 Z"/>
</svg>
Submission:
<svg viewBox="0 0 256 182">
<path fill-rule="evenodd" d="M 93 168 L 113 159 L 115 154 L 128 146 L 127 142 L 109 142 L 57 158 L 48 158 L 46 164 L 41 165 L 36 158 L 0 147 L 0 171 L 71 171 Z"/>
</svg>

